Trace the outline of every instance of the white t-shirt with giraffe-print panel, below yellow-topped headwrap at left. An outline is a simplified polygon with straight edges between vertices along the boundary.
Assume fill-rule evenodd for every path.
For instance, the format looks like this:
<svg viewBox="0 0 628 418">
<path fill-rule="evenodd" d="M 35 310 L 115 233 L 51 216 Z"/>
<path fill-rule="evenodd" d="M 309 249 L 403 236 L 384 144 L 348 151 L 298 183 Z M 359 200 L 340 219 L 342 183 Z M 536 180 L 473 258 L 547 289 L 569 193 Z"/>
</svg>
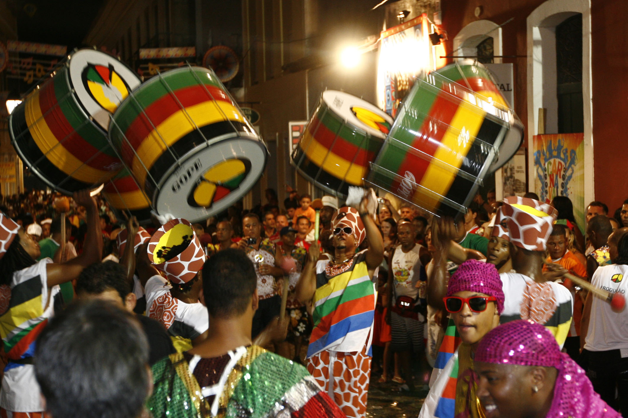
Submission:
<svg viewBox="0 0 628 418">
<path fill-rule="evenodd" d="M 200 302 L 185 303 L 173 298 L 171 288 L 161 276 L 148 279 L 144 286 L 146 316 L 160 321 L 170 335 L 193 340 L 209 328 L 207 308 Z"/>
</svg>

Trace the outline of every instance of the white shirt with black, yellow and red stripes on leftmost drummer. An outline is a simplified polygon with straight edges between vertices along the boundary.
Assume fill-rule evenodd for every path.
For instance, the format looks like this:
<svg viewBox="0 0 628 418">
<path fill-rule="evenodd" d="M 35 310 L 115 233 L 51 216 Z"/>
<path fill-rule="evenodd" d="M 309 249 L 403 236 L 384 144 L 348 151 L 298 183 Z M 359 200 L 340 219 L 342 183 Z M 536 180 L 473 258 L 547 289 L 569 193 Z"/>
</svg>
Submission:
<svg viewBox="0 0 628 418">
<path fill-rule="evenodd" d="M 9 308 L 1 316 L 3 319 L 3 335 L 6 335 L 3 338 L 4 341 L 11 340 L 19 332 L 54 316 L 54 298 L 59 293 L 60 288 L 59 286 L 53 286 L 50 289 L 50 295 L 48 295 L 48 275 L 46 274 L 46 264 L 48 263 L 52 263 L 52 260 L 44 258 L 29 268 L 13 273 L 13 280 L 11 280 L 9 285 L 11 287 L 11 298 L 17 298 L 21 303 L 18 301 L 18 305 Z M 25 299 L 22 300 L 23 298 Z M 41 300 L 43 313 L 34 317 L 28 315 L 29 312 L 25 312 L 24 308 L 27 308 L 33 302 L 38 303 L 36 298 Z M 48 303 L 49 299 L 50 303 Z M 16 300 L 12 300 L 12 303 L 16 303 Z M 13 314 L 11 310 L 14 310 Z M 8 323 L 10 320 L 8 320 L 8 316 L 13 317 L 14 323 L 19 323 L 13 329 L 9 329 Z M 7 320 L 4 320 L 5 318 Z M 31 348 L 27 350 L 27 353 L 30 351 Z M 24 355 L 23 357 L 30 356 Z M 17 365 L 9 362 L 4 369 L 2 390 L 0 390 L 0 407 L 13 412 L 38 412 L 44 409 L 43 404 L 41 404 L 40 387 L 35 379 L 34 365 Z"/>
</svg>

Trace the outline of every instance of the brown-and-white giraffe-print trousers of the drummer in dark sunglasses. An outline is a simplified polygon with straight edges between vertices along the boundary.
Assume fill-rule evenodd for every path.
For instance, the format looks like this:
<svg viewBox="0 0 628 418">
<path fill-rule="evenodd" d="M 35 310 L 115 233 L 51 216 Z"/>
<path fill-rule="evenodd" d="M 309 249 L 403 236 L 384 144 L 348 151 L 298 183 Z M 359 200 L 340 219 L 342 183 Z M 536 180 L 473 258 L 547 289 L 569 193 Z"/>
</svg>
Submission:
<svg viewBox="0 0 628 418">
<path fill-rule="evenodd" d="M 308 358 L 307 368 L 347 417 L 365 417 L 371 376 L 366 345 L 361 352 L 322 351 Z"/>
</svg>

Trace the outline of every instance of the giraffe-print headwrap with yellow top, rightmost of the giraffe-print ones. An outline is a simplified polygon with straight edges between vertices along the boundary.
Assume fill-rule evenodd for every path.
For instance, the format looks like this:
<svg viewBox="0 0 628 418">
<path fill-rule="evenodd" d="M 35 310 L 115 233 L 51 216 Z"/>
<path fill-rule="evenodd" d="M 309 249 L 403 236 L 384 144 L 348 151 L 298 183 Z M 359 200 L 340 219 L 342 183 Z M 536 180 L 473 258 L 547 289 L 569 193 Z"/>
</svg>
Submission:
<svg viewBox="0 0 628 418">
<path fill-rule="evenodd" d="M 500 209 L 502 217 L 507 219 L 512 244 L 529 251 L 545 251 L 552 223 L 558 215 L 556 209 L 548 203 L 519 196 L 506 197 Z M 495 229 L 497 221 L 493 231 Z"/>
</svg>

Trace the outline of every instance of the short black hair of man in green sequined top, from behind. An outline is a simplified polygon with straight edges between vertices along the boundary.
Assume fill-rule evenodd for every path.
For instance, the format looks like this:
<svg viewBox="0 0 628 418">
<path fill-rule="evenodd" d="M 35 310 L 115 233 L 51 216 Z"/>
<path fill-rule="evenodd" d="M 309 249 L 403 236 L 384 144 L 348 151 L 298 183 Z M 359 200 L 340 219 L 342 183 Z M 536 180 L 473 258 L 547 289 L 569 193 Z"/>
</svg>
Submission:
<svg viewBox="0 0 628 418">
<path fill-rule="evenodd" d="M 219 251 L 203 266 L 203 295 L 209 315 L 231 318 L 242 315 L 257 288 L 257 274 L 244 251 Z"/>
</svg>

